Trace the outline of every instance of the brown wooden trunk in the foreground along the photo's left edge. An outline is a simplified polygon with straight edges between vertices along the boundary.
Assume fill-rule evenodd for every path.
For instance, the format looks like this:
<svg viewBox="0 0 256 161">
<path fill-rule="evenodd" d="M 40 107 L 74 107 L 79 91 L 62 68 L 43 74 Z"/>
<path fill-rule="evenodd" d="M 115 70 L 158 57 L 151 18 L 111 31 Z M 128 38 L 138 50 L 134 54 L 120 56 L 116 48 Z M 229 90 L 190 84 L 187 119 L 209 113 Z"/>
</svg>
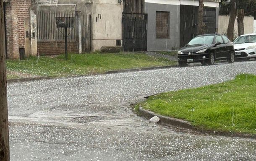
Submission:
<svg viewBox="0 0 256 161">
<path fill-rule="evenodd" d="M 0 0 L 0 161 L 10 161 L 6 93 L 4 14 L 3 0 Z"/>
</svg>

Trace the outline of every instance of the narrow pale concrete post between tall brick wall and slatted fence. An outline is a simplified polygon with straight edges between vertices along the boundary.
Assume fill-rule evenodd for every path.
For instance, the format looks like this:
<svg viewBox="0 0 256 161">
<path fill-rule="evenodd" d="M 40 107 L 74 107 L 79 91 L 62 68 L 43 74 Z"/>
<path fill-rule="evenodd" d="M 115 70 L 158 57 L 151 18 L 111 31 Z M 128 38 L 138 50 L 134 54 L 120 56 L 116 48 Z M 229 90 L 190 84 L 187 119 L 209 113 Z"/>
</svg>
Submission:
<svg viewBox="0 0 256 161">
<path fill-rule="evenodd" d="M 37 14 L 34 9 L 30 10 L 30 34 L 31 34 L 31 55 L 37 55 Z"/>
</svg>

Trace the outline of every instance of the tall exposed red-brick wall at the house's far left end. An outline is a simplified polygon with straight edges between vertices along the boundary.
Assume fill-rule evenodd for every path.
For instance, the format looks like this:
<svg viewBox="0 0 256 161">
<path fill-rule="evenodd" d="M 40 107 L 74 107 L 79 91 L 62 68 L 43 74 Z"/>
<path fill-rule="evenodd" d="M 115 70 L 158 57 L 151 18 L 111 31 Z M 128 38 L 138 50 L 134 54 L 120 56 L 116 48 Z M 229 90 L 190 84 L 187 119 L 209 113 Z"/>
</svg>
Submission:
<svg viewBox="0 0 256 161">
<path fill-rule="evenodd" d="M 5 3 L 7 57 L 18 58 L 25 46 L 24 20 L 29 17 L 31 0 L 9 0 Z"/>
</svg>

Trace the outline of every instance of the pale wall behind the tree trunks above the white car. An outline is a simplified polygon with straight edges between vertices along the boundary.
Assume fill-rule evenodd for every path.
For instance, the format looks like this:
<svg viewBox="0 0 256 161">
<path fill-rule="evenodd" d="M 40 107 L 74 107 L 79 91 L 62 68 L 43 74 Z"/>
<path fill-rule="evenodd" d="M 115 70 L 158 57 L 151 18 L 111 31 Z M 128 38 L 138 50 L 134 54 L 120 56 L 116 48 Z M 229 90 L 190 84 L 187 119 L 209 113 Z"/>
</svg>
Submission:
<svg viewBox="0 0 256 161">
<path fill-rule="evenodd" d="M 251 16 L 245 16 L 243 19 L 244 23 L 244 34 L 251 34 L 253 33 L 253 20 L 254 18 Z M 228 26 L 229 16 L 219 16 L 219 23 L 218 23 L 218 33 L 219 34 L 227 34 L 227 26 Z M 238 36 L 238 23 L 235 19 L 234 25 L 234 38 Z"/>
</svg>

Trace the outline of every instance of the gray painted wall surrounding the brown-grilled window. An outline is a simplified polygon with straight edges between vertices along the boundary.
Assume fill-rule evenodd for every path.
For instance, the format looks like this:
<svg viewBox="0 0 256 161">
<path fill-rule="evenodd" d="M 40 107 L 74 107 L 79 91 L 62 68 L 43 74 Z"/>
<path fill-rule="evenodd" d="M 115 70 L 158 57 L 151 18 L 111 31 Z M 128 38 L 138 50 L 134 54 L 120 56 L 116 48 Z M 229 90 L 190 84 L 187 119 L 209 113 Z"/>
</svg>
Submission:
<svg viewBox="0 0 256 161">
<path fill-rule="evenodd" d="M 148 13 L 148 51 L 170 51 L 180 46 L 180 6 L 146 3 Z M 156 11 L 170 12 L 170 37 L 156 39 Z"/>
</svg>

